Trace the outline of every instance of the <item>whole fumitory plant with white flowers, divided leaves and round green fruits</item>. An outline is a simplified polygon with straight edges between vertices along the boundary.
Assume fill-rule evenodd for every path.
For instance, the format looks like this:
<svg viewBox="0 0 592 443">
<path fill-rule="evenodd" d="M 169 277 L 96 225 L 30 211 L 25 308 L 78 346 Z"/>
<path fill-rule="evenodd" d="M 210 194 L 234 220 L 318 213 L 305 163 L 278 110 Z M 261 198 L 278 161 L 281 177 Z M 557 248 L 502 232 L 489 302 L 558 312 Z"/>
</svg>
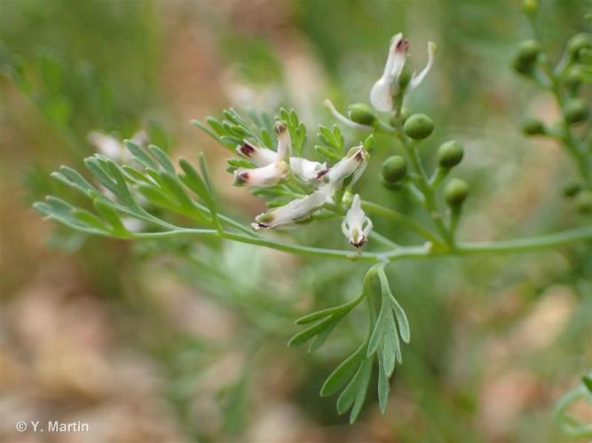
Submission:
<svg viewBox="0 0 592 443">
<path fill-rule="evenodd" d="M 592 127 L 588 104 L 580 98 L 580 92 L 585 83 L 592 82 L 592 35 L 572 36 L 556 63 L 541 47 L 536 9 L 533 2 L 525 4 L 535 32 L 532 40 L 519 44 L 513 67 L 555 98 L 559 117 L 553 124 L 526 119 L 523 130 L 528 136 L 549 137 L 562 145 L 573 160 L 576 173 L 564 193 L 574 199 L 582 212 L 591 212 Z M 340 113 L 330 101 L 325 101 L 338 125 L 355 130 L 357 139 L 352 142 L 345 141 L 338 125 L 321 125 L 318 141 L 308 143 L 307 128 L 294 110 L 285 108 L 275 118 L 257 113 L 241 115 L 226 109 L 220 118 L 193 120 L 195 126 L 232 155 L 227 170 L 233 184 L 248 187 L 266 203 L 268 210 L 258 214 L 250 226 L 220 212 L 202 155 L 197 166 L 186 159 L 179 159 L 175 165 L 168 153 L 146 144 L 141 134 L 124 144 L 92 134 L 91 142 L 103 153 L 84 160 L 91 177 L 66 166 L 53 173 L 60 182 L 90 199 L 91 206 L 49 196 L 35 207 L 71 229 L 98 236 L 126 240 L 217 238 L 327 260 L 350 260 L 368 267 L 350 301 L 297 319 L 302 330 L 289 339 L 288 346 L 309 344 L 311 351 L 317 350 L 344 317 L 365 304 L 366 338 L 327 377 L 320 395 L 340 392 L 337 411 L 350 411 L 353 423 L 366 399 L 373 372 L 377 371 L 378 400 L 384 413 L 390 379 L 396 366 L 403 362 L 403 344 L 411 339 L 405 309 L 391 289 L 386 267 L 399 260 L 522 253 L 592 240 L 589 222 L 536 237 L 478 243 L 457 239 L 463 202 L 470 192 L 468 183 L 453 176 L 454 167 L 462 161 L 463 147 L 454 140 L 448 141 L 438 148 L 435 170 L 427 170 L 423 164 L 419 150 L 429 139 L 434 122 L 424 113 L 411 113 L 404 105 L 407 95 L 429 74 L 437 46 L 428 43 L 427 65 L 414 72 L 407 60 L 409 44 L 402 34 L 391 39 L 383 74 L 373 86 L 368 85 L 369 105 L 353 104 Z M 429 223 L 416 221 L 395 207 L 381 206 L 365 198 L 364 190 L 359 189 L 359 179 L 372 161 L 375 135 L 379 133 L 391 137 L 393 145 L 402 145 L 405 156 L 388 157 L 381 175 L 367 178 L 380 180 L 392 192 L 409 194 L 429 215 Z M 170 214 L 180 214 L 186 222 L 181 225 L 175 222 L 179 218 Z M 400 245 L 397 231 L 374 229 L 372 219 L 378 217 L 413 230 L 423 241 Z M 288 243 L 275 239 L 269 232 L 320 220 L 341 223 L 349 247 L 330 249 Z M 589 390 L 582 387 L 577 392 L 592 400 Z M 558 415 L 563 414 L 572 397 L 564 400 Z M 586 426 L 575 424 L 570 431 L 579 435 L 586 431 Z"/>
</svg>

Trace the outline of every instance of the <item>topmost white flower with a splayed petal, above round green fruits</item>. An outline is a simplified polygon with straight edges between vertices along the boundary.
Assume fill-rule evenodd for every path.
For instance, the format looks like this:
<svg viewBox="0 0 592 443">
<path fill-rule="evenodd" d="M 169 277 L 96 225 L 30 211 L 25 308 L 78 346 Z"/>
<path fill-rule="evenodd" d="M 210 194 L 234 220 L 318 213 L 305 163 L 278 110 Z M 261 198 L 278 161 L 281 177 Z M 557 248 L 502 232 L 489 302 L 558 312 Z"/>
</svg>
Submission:
<svg viewBox="0 0 592 443">
<path fill-rule="evenodd" d="M 383 76 L 378 82 L 375 82 L 375 85 L 370 90 L 370 103 L 378 111 L 387 113 L 394 109 L 392 97 L 399 92 L 399 79 L 403 73 L 405 63 L 407 62 L 408 48 L 409 42 L 403 38 L 401 33 L 392 37 L 391 46 L 389 47 L 389 55 L 387 56 L 386 64 L 384 65 Z M 428 63 L 420 74 L 414 73 L 412 75 L 404 93 L 419 86 L 428 72 L 430 72 L 430 68 L 434 63 L 436 50 L 436 43 L 428 43 Z"/>
</svg>

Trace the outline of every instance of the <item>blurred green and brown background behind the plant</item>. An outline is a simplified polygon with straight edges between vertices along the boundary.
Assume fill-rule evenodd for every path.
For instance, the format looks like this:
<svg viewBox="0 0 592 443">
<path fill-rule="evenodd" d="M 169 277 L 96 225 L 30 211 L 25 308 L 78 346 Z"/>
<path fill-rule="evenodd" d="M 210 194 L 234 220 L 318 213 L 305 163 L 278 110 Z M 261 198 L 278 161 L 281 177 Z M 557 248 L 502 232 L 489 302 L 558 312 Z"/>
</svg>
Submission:
<svg viewBox="0 0 592 443">
<path fill-rule="evenodd" d="M 589 11 L 581 1 L 541 2 L 553 54 Z M 333 124 L 322 101 L 367 101 L 399 31 L 418 68 L 426 43 L 438 43 L 407 105 L 436 121 L 428 164 L 441 142 L 465 144 L 459 175 L 471 195 L 461 237 L 589 223 L 561 196 L 572 174 L 563 152 L 519 133 L 525 113 L 549 120 L 556 111 L 509 69 L 530 36 L 517 1 L 0 1 L 0 439 L 568 440 L 552 409 L 592 366 L 589 244 L 391 266 L 413 340 L 388 415 L 371 393 L 350 426 L 318 392 L 364 333 L 363 317 L 316 354 L 285 344 L 298 315 L 355 296 L 365 266 L 227 243 L 83 237 L 29 208 L 66 192 L 49 173 L 81 167 L 95 150 L 91 130 L 130 137 L 145 128 L 173 157 L 206 152 L 226 211 L 247 222 L 261 202 L 230 185 L 227 152 L 188 121 L 230 105 L 287 105 L 313 144 L 317 125 Z M 378 140 L 362 194 L 422 219 L 374 179 L 387 144 Z M 400 243 L 418 241 L 375 225 Z M 292 235 L 343 241 L 334 222 Z M 14 430 L 37 419 L 81 420 L 91 431 L 47 440 Z"/>
</svg>

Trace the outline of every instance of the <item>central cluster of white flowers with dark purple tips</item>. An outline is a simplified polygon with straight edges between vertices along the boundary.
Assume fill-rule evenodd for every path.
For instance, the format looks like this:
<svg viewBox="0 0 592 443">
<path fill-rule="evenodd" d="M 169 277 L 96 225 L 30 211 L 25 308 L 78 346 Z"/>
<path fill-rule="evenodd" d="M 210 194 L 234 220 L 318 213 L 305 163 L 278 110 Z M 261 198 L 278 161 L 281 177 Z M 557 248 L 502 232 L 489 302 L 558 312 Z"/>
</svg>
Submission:
<svg viewBox="0 0 592 443">
<path fill-rule="evenodd" d="M 312 185 L 312 191 L 302 198 L 295 198 L 284 206 L 274 207 L 257 215 L 252 223 L 254 229 L 273 229 L 279 226 L 302 221 L 326 204 L 335 204 L 335 195 L 343 189 L 346 180 L 351 187 L 359 180 L 367 167 L 369 154 L 359 145 L 333 165 L 319 163 L 302 157 L 292 157 L 291 139 L 285 122 L 275 125 L 278 137 L 277 151 L 259 147 L 244 140 L 237 146 L 236 152 L 249 159 L 255 167 L 240 167 L 234 171 L 234 184 L 255 188 L 271 187 L 288 181 L 290 175 Z M 367 241 L 372 229 L 372 222 L 362 211 L 359 196 L 354 196 L 351 208 L 343 220 L 343 233 L 351 245 L 361 247 Z"/>
</svg>

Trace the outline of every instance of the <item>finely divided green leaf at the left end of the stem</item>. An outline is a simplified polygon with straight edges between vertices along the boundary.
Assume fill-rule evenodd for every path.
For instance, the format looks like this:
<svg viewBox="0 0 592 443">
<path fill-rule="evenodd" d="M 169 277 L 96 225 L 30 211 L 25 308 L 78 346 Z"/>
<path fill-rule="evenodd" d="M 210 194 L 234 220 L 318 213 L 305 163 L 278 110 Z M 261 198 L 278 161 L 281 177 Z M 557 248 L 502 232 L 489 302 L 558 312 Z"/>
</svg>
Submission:
<svg viewBox="0 0 592 443">
<path fill-rule="evenodd" d="M 36 209 L 72 229 L 103 236 L 132 236 L 122 222 L 123 216 L 147 221 L 159 229 L 179 229 L 150 214 L 144 207 L 147 199 L 149 205 L 162 206 L 206 226 L 222 229 L 203 157 L 199 173 L 185 159 L 179 161 L 182 172 L 177 173 L 169 155 L 158 146 L 150 145 L 145 149 L 131 142 L 125 145 L 133 155 L 133 166 L 120 166 L 112 159 L 96 154 L 84 159 L 92 179 L 70 167 L 60 167 L 52 174 L 59 182 L 89 198 L 96 213 L 88 207 L 77 207 L 51 196 L 37 202 Z"/>
</svg>

